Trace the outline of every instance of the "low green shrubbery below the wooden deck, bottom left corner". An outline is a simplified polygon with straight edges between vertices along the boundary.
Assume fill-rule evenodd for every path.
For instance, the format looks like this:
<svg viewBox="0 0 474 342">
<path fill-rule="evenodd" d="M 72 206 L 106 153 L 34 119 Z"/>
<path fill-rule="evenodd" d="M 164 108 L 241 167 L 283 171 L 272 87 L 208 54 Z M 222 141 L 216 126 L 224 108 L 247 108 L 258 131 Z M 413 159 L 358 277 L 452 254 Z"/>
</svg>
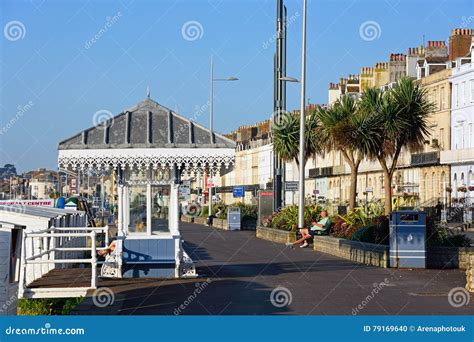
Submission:
<svg viewBox="0 0 474 342">
<path fill-rule="evenodd" d="M 84 301 L 79 298 L 22 298 L 18 300 L 18 315 L 51 316 L 69 315 L 77 305 Z"/>
</svg>

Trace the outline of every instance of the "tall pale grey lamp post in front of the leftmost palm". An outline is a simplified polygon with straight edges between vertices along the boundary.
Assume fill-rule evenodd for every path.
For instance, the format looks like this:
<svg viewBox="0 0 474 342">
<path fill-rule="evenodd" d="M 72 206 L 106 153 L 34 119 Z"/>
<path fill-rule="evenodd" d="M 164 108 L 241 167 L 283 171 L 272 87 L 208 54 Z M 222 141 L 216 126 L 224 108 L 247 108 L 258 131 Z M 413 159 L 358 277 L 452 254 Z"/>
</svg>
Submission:
<svg viewBox="0 0 474 342">
<path fill-rule="evenodd" d="M 300 99 L 300 150 L 299 150 L 299 201 L 298 228 L 304 228 L 304 130 L 305 130 L 305 92 L 306 92 L 306 0 L 303 0 L 303 37 L 301 45 L 301 99 Z"/>
</svg>

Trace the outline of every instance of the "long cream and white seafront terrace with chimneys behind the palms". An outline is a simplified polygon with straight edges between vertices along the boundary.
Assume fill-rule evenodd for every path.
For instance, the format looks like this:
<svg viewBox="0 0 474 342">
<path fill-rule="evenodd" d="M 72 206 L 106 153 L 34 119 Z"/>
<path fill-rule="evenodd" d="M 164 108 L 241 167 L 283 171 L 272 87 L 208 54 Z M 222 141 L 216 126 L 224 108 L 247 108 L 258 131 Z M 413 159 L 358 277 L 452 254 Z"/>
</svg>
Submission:
<svg viewBox="0 0 474 342">
<path fill-rule="evenodd" d="M 392 53 L 387 62 L 364 66 L 359 75 L 330 83 L 328 105 L 342 95 L 360 97 L 368 87 L 390 88 L 407 76 L 426 89 L 434 110 L 430 116 L 431 134 L 423 151 L 403 151 L 392 187 L 397 206 L 438 201 L 451 204 L 458 188 L 474 190 L 474 69 L 472 68 L 472 30 L 454 29 L 445 41 L 428 41 L 426 46 L 409 48 L 407 53 Z M 453 95 L 452 95 L 453 93 Z M 262 132 L 265 131 L 265 134 Z M 220 180 L 217 193 L 227 203 L 241 201 L 232 197 L 232 187 L 246 186 L 245 201 L 255 198 L 258 189 L 271 188 L 273 150 L 269 121 L 240 127 L 228 136 L 237 142 L 235 170 Z M 297 179 L 294 163 L 286 163 L 286 181 Z M 349 199 L 350 169 L 339 152 L 316 156 L 306 164 L 306 196 L 345 203 Z M 359 168 L 358 200 L 382 199 L 387 186 L 378 162 L 364 160 Z M 471 187 L 471 188 L 469 188 Z M 451 192 L 453 188 L 453 192 Z M 468 193 L 467 195 L 474 193 Z M 296 193 L 287 192 L 286 203 Z"/>
</svg>

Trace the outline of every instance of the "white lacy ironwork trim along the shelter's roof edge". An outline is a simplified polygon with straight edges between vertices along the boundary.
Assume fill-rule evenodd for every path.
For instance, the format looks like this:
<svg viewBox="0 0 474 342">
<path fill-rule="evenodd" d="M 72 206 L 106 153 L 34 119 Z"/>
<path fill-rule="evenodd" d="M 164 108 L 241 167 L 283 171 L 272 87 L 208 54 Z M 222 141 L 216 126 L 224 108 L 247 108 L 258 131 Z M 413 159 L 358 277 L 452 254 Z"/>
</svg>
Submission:
<svg viewBox="0 0 474 342">
<path fill-rule="evenodd" d="M 137 168 L 140 170 L 163 167 L 190 173 L 211 170 L 219 173 L 222 166 L 234 164 L 231 148 L 133 148 L 133 149 L 83 149 L 60 150 L 58 164 L 63 168 L 109 170 Z"/>
</svg>

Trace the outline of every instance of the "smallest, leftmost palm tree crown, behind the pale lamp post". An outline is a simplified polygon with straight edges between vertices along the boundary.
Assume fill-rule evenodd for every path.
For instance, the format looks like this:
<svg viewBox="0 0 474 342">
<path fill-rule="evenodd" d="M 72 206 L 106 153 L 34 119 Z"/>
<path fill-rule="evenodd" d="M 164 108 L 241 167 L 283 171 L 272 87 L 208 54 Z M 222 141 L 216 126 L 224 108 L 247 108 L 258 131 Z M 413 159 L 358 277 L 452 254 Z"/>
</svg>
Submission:
<svg viewBox="0 0 474 342">
<path fill-rule="evenodd" d="M 298 167 L 305 167 L 311 156 L 322 151 L 320 141 L 319 121 L 315 112 L 306 115 L 305 118 L 305 158 L 302 162 L 298 159 L 299 153 L 299 116 L 284 113 L 282 122 L 272 127 L 273 147 L 283 161 L 294 161 Z"/>
</svg>

